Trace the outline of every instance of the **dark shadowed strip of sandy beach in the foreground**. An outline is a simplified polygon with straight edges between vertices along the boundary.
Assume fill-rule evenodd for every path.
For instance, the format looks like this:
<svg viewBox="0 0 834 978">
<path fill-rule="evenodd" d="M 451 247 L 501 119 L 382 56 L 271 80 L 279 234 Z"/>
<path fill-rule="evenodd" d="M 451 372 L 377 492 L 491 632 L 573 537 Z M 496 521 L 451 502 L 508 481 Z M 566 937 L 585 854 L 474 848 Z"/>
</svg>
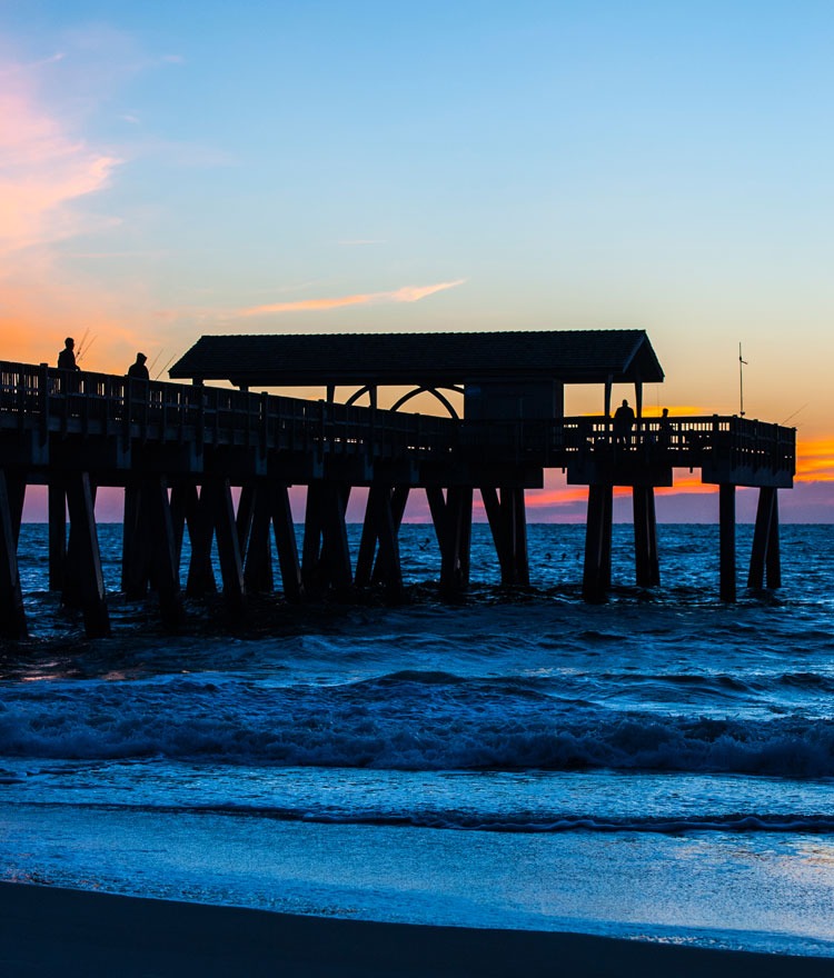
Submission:
<svg viewBox="0 0 834 978">
<path fill-rule="evenodd" d="M 425 927 L 0 884 L 0 974 L 188 978 L 831 976 L 831 958 Z"/>
</svg>

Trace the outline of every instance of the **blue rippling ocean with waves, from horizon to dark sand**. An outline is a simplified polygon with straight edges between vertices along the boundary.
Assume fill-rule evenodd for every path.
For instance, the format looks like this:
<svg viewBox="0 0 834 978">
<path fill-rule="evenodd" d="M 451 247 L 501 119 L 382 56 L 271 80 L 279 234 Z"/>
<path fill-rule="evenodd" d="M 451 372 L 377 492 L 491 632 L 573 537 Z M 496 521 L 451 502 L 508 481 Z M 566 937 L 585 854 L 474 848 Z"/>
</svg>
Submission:
<svg viewBox="0 0 834 978">
<path fill-rule="evenodd" d="M 512 593 L 476 525 L 448 603 L 431 528 L 407 525 L 405 605 L 261 599 L 232 629 L 189 603 L 171 637 L 116 592 L 103 526 L 113 635 L 88 640 L 26 525 L 0 879 L 834 957 L 834 527 L 781 528 L 774 592 L 743 587 L 751 529 L 735 605 L 717 527 L 658 527 L 643 590 L 615 526 L 588 606 L 583 527 L 530 526 Z"/>
</svg>

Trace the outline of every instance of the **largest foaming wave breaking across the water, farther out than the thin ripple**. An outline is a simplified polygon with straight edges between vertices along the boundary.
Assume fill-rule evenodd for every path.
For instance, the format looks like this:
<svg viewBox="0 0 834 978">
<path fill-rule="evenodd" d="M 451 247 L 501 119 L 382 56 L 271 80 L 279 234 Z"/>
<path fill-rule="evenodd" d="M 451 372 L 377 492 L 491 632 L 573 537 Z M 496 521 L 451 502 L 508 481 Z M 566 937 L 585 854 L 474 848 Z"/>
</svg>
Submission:
<svg viewBox="0 0 834 978">
<path fill-rule="evenodd" d="M 46 685 L 40 685 L 46 687 Z M 830 718 L 612 709 L 507 679 L 410 672 L 291 688 L 214 677 L 77 682 L 0 700 L 0 755 L 161 756 L 390 770 L 703 771 L 834 777 Z"/>
</svg>

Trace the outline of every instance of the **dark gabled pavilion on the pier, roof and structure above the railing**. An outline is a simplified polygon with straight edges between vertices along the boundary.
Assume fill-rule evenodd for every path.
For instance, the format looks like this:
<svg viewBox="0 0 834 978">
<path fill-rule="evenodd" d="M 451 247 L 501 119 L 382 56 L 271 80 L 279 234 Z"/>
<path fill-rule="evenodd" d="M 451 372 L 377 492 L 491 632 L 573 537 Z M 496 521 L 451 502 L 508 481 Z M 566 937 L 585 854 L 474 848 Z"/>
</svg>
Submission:
<svg viewBox="0 0 834 978">
<path fill-rule="evenodd" d="M 324 387 L 347 403 L 380 387 L 405 387 L 394 406 L 427 391 L 457 412 L 448 391 L 464 396 L 474 420 L 564 416 L 565 386 L 633 383 L 637 413 L 643 385 L 663 380 L 645 330 L 528 330 L 500 332 L 269 333 L 203 336 L 170 369 L 171 379 L 225 380 L 244 389 Z"/>
</svg>

